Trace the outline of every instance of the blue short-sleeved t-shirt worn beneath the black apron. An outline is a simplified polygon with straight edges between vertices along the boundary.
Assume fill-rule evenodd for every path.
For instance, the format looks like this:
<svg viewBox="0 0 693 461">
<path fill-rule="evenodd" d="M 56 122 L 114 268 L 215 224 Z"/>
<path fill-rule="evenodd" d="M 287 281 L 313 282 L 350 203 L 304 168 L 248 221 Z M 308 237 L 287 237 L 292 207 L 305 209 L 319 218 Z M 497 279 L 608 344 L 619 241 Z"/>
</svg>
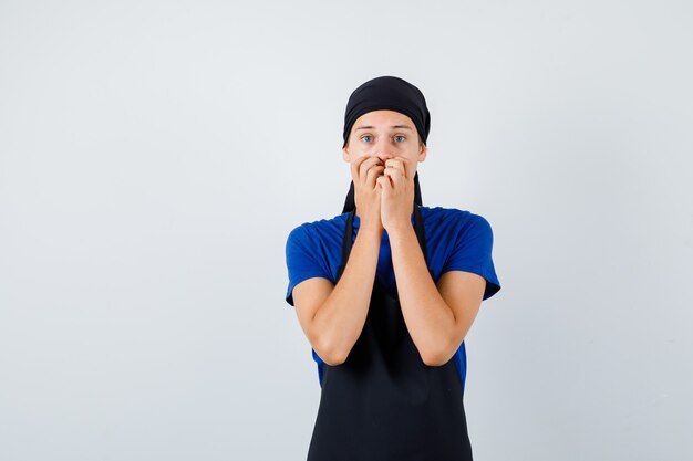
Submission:
<svg viewBox="0 0 693 461">
<path fill-rule="evenodd" d="M 433 272 L 433 279 L 437 282 L 448 271 L 473 272 L 486 279 L 484 300 L 496 294 L 500 290 L 500 283 L 492 260 L 494 238 L 488 221 L 479 214 L 455 208 L 421 207 L 421 214 L 426 234 L 428 269 Z M 331 219 L 304 222 L 289 233 L 286 247 L 289 271 L 286 301 L 291 306 L 292 290 L 304 280 L 319 276 L 335 283 L 348 217 L 349 213 L 342 213 Z M 354 240 L 359 232 L 359 217 L 354 214 Z M 413 223 L 412 213 L 412 226 Z M 394 291 L 395 275 L 387 231 L 383 232 L 381 241 L 376 277 L 386 290 Z M 318 364 L 318 379 L 322 387 L 324 362 L 314 349 L 312 356 Z M 466 358 L 463 342 L 453 357 L 463 388 L 467 371 Z"/>
</svg>

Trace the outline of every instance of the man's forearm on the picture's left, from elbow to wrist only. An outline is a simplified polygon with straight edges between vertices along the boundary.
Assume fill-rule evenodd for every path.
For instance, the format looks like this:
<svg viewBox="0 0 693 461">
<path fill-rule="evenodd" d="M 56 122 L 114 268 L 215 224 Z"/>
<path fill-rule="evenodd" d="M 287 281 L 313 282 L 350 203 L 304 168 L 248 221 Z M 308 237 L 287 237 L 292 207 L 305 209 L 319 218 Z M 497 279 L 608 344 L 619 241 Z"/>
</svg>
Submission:
<svg viewBox="0 0 693 461">
<path fill-rule="evenodd" d="M 382 231 L 361 229 L 337 285 L 317 311 L 321 357 L 330 365 L 344 362 L 359 339 L 371 303 Z"/>
</svg>

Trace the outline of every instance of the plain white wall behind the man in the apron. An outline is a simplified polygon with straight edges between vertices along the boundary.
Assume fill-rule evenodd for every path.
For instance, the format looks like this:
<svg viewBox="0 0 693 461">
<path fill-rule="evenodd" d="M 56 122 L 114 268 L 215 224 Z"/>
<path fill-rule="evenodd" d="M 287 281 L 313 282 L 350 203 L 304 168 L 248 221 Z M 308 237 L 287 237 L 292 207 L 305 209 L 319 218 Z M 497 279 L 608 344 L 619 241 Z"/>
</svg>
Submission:
<svg viewBox="0 0 693 461">
<path fill-rule="evenodd" d="M 689 1 L 3 0 L 0 459 L 304 459 L 285 243 L 380 75 L 494 230 L 475 459 L 693 459 L 692 44 Z"/>
</svg>

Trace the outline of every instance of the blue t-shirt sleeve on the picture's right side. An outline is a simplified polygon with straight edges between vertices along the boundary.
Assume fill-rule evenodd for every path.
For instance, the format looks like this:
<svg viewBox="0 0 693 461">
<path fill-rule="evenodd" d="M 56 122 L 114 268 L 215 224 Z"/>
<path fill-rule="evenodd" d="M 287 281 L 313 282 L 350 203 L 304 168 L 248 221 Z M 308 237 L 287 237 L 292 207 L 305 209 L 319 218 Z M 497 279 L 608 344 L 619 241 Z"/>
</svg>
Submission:
<svg viewBox="0 0 693 461">
<path fill-rule="evenodd" d="M 483 300 L 488 300 L 500 290 L 492 250 L 494 234 L 488 221 L 478 214 L 457 230 L 455 243 L 445 261 L 441 274 L 448 271 L 473 272 L 486 279 Z"/>
</svg>

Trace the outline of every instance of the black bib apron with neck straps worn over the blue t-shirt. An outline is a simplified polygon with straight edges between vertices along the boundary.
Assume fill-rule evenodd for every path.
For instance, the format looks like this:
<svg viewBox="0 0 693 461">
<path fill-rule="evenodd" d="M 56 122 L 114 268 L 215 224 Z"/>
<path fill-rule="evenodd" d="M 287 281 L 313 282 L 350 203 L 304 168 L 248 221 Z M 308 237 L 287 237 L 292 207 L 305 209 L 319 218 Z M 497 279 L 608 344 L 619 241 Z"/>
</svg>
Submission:
<svg viewBox="0 0 693 461">
<path fill-rule="evenodd" d="M 346 219 L 335 284 L 351 252 L 354 212 Z M 414 227 L 427 264 L 418 205 Z M 457 366 L 453 359 L 436 367 L 423 363 L 396 291 L 389 294 L 377 276 L 363 331 L 346 360 L 323 368 L 308 461 L 341 460 L 472 460 Z"/>
</svg>

